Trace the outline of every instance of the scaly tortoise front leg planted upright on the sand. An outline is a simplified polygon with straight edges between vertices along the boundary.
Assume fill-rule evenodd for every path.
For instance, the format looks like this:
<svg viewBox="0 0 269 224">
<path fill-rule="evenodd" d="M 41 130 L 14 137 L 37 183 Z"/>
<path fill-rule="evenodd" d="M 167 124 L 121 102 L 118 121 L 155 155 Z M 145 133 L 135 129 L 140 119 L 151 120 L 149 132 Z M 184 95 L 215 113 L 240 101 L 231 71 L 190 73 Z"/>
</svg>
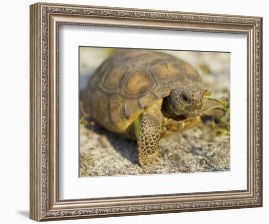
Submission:
<svg viewBox="0 0 269 224">
<path fill-rule="evenodd" d="M 160 134 L 161 126 L 157 116 L 144 113 L 140 119 L 139 136 L 136 136 L 138 162 L 143 169 L 162 161 L 159 154 Z"/>
</svg>

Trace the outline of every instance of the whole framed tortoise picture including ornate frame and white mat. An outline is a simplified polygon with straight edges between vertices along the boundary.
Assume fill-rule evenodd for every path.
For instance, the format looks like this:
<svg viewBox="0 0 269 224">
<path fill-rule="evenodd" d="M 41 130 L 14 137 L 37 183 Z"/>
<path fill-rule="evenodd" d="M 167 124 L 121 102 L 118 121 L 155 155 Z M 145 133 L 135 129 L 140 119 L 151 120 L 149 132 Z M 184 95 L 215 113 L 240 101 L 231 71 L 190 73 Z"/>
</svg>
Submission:
<svg viewBox="0 0 269 224">
<path fill-rule="evenodd" d="M 262 18 L 30 6 L 30 218 L 262 206 Z"/>
</svg>

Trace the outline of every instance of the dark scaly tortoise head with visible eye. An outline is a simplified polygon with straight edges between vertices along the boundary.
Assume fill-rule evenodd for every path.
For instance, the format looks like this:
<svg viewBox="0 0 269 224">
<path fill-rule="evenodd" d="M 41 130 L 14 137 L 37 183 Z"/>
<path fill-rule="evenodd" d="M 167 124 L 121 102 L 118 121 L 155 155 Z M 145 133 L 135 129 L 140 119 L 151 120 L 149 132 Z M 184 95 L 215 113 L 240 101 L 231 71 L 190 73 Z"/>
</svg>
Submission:
<svg viewBox="0 0 269 224">
<path fill-rule="evenodd" d="M 194 85 L 181 86 L 169 94 L 169 113 L 195 117 L 202 110 L 203 91 Z"/>
</svg>

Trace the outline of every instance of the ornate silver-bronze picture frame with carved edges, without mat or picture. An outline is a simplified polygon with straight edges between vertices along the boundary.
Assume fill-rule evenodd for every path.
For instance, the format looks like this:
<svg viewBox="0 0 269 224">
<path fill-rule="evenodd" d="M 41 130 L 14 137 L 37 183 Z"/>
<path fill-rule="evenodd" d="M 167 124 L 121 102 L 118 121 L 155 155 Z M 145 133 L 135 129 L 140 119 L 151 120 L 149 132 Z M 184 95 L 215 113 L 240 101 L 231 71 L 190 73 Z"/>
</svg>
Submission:
<svg viewBox="0 0 269 224">
<path fill-rule="evenodd" d="M 247 189 L 59 199 L 59 27 L 247 36 Z M 90 180 L 89 180 L 90 181 Z M 51 221 L 262 206 L 262 18 L 36 3 L 30 6 L 30 219 Z"/>
</svg>

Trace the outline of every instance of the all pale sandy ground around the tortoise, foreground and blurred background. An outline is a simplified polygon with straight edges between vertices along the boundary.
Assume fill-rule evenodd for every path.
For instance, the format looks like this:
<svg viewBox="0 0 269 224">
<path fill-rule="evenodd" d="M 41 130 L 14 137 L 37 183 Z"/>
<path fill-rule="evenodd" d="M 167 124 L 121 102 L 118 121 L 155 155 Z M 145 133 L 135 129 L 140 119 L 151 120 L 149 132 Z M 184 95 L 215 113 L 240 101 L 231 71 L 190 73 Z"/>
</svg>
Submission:
<svg viewBox="0 0 269 224">
<path fill-rule="evenodd" d="M 94 69 L 102 62 L 100 49 L 80 51 L 80 88 Z M 187 62 L 192 62 L 202 74 L 206 88 L 216 97 L 225 97 L 229 89 L 229 55 L 227 53 L 171 52 Z M 83 55 L 84 54 L 84 55 Z M 90 54 L 99 55 L 96 62 L 87 64 Z M 105 54 L 103 54 L 105 55 Z M 92 58 L 92 57 L 91 57 Z M 105 56 L 103 56 L 105 58 Z M 219 84 L 219 85 L 218 85 Z M 216 137 L 209 117 L 202 124 L 160 140 L 163 162 L 146 170 L 146 174 L 222 172 L 230 169 L 229 136 Z M 90 123 L 80 125 L 80 177 L 139 175 L 136 142 L 111 133 Z"/>
</svg>

